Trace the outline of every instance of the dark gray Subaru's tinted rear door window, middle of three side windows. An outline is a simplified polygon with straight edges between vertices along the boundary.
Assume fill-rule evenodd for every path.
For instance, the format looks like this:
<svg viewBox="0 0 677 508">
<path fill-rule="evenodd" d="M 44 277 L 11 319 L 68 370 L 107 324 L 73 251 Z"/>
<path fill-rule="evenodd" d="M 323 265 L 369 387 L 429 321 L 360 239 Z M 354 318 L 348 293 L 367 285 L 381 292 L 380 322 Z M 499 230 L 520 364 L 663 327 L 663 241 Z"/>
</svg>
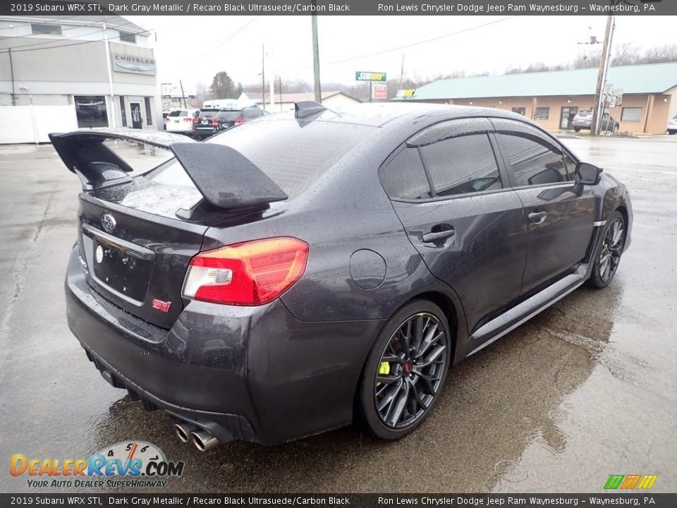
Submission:
<svg viewBox="0 0 677 508">
<path fill-rule="evenodd" d="M 463 135 L 420 148 L 438 197 L 503 187 L 487 134 Z"/>
</svg>

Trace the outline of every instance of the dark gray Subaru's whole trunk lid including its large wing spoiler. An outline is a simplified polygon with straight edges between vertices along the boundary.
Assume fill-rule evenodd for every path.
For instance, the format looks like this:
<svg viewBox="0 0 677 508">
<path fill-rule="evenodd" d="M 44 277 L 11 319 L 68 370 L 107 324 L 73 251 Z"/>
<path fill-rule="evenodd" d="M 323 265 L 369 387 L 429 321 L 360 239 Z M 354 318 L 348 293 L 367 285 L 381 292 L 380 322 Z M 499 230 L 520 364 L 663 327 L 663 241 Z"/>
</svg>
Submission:
<svg viewBox="0 0 677 508">
<path fill-rule="evenodd" d="M 183 310 L 190 260 L 214 220 L 257 217 L 286 194 L 236 150 L 170 133 L 78 131 L 50 135 L 68 169 L 80 176 L 78 243 L 87 283 L 128 313 L 171 328 Z M 133 171 L 109 139 L 171 148 L 194 186 L 168 186 Z M 173 162 L 172 162 L 173 161 Z"/>
</svg>

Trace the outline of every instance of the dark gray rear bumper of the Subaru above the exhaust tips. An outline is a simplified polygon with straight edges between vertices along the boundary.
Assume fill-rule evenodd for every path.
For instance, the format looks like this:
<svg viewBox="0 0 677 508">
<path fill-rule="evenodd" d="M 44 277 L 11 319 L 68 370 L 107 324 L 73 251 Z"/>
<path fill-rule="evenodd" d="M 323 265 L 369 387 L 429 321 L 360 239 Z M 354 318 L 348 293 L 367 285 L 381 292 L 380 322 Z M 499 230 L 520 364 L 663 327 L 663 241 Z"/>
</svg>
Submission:
<svg viewBox="0 0 677 508">
<path fill-rule="evenodd" d="M 106 380 L 146 409 L 219 440 L 276 444 L 350 423 L 353 399 L 384 322 L 303 322 L 283 303 L 190 302 L 161 329 L 87 284 L 78 247 L 66 276 L 68 325 Z"/>
</svg>

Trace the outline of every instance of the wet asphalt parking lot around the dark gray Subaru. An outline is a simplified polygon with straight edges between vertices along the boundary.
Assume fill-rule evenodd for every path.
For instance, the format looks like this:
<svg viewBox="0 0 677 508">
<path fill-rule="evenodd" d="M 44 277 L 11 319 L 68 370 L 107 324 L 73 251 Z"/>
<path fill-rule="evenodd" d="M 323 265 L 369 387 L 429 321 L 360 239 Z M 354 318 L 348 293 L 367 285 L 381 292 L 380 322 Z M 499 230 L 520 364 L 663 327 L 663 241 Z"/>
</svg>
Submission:
<svg viewBox="0 0 677 508">
<path fill-rule="evenodd" d="M 127 440 L 185 462 L 164 492 L 601 492 L 633 473 L 675 492 L 677 136 L 566 143 L 630 189 L 633 243 L 609 288 L 578 289 L 453 368 L 401 441 L 344 428 L 207 453 L 87 361 L 63 298 L 80 182 L 49 145 L 0 147 L 0 492 L 30 490 L 11 454 L 78 459 Z"/>
</svg>

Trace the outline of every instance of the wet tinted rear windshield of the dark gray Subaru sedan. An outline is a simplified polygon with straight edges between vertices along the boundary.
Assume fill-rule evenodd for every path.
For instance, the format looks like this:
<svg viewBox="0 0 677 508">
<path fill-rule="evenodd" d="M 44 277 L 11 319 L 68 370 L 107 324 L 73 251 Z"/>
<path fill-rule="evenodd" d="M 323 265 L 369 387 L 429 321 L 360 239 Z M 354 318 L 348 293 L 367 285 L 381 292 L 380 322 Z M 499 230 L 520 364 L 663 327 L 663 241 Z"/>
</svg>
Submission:
<svg viewBox="0 0 677 508">
<path fill-rule="evenodd" d="M 322 121 L 257 121 L 229 129 L 205 143 L 238 150 L 293 199 L 376 129 Z M 195 187 L 176 161 L 158 167 L 146 177 L 170 186 Z"/>
</svg>

